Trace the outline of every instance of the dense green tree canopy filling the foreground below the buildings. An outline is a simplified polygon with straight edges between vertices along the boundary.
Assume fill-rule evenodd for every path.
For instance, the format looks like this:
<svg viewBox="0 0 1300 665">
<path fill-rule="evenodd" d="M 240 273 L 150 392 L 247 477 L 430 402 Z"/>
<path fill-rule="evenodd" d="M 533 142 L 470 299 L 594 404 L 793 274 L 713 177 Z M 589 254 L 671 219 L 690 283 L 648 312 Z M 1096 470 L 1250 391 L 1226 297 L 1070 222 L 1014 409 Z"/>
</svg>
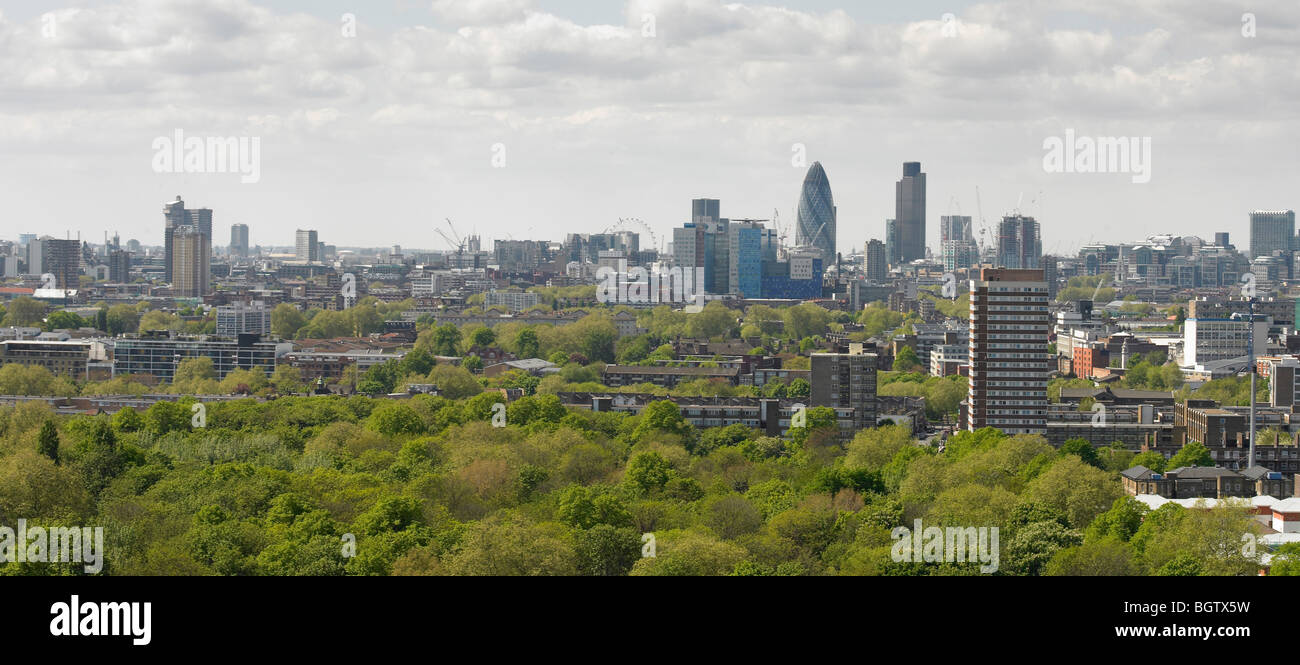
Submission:
<svg viewBox="0 0 1300 665">
<path fill-rule="evenodd" d="M 125 575 L 975 573 L 897 561 L 892 533 L 918 518 L 998 527 L 1001 575 L 1257 566 L 1244 509 L 1148 514 L 1123 496 L 1115 470 L 1131 458 L 1114 451 L 996 430 L 942 452 L 902 427 L 844 443 L 829 409 L 779 439 L 696 430 L 667 401 L 640 416 L 550 395 L 498 404 L 242 400 L 208 404 L 203 427 L 187 401 L 112 417 L 4 408 L 0 523 L 103 526 L 104 574 Z"/>
</svg>

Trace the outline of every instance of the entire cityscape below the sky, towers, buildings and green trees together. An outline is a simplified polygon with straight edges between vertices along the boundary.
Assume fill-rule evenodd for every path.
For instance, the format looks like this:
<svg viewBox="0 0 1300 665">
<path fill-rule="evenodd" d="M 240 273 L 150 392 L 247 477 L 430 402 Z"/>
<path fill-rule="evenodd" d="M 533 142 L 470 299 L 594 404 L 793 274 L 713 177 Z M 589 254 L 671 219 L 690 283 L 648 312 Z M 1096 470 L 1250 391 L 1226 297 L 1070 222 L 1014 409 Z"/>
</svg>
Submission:
<svg viewBox="0 0 1300 665">
<path fill-rule="evenodd" d="M 663 236 L 222 247 L 177 196 L 3 239 L 0 526 L 103 526 L 103 574 L 979 570 L 890 557 L 922 522 L 983 573 L 1300 574 L 1295 212 L 1050 256 L 893 195 L 852 248 L 822 164 Z"/>
</svg>

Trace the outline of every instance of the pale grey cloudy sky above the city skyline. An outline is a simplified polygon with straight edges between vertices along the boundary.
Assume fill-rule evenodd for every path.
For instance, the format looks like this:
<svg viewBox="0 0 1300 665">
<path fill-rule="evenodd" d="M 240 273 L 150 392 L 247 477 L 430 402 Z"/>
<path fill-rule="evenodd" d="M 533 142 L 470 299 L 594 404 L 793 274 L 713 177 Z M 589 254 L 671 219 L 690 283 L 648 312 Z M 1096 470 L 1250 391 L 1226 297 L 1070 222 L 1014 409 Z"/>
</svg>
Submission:
<svg viewBox="0 0 1300 665">
<path fill-rule="evenodd" d="M 1300 205 L 1295 0 L 0 1 L 0 238 L 161 243 L 181 194 L 287 245 L 562 239 L 692 197 L 779 210 L 820 161 L 841 251 L 884 239 L 904 161 L 939 216 L 1019 205 L 1044 248 L 1230 231 Z M 949 14 L 945 18 L 945 14 Z M 1249 16 L 1244 16 L 1249 14 Z M 1249 36 L 1253 35 L 1253 36 Z M 256 138 L 260 177 L 157 173 L 156 139 Z M 1150 140 L 1132 173 L 1044 142 Z M 1117 169 L 1118 170 L 1118 169 Z M 645 240 L 642 240 L 645 243 Z"/>
</svg>

